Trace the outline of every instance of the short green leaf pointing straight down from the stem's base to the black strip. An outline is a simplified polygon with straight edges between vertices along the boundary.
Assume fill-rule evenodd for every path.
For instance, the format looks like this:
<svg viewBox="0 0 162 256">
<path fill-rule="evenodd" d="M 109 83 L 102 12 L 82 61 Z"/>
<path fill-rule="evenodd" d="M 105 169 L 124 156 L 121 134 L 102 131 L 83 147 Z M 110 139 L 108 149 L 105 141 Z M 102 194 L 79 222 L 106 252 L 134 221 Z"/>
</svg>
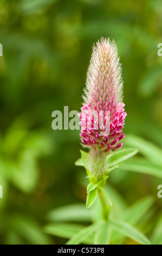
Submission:
<svg viewBox="0 0 162 256">
<path fill-rule="evenodd" d="M 111 240 L 111 228 L 108 223 L 101 224 L 101 227 L 94 235 L 94 245 L 109 245 Z"/>
</svg>

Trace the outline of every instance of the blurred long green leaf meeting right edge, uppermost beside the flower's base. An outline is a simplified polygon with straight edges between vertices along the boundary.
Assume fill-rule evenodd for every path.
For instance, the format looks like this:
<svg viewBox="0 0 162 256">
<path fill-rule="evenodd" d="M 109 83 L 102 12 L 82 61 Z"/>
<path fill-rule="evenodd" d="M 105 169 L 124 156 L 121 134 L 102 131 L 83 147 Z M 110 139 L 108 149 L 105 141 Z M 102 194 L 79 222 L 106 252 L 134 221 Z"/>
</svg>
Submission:
<svg viewBox="0 0 162 256">
<path fill-rule="evenodd" d="M 162 150 L 157 147 L 157 145 L 135 135 L 127 135 L 125 137 L 125 143 L 128 146 L 131 145 L 132 147 L 138 148 L 139 152 L 144 155 L 148 161 L 162 166 Z"/>
</svg>

